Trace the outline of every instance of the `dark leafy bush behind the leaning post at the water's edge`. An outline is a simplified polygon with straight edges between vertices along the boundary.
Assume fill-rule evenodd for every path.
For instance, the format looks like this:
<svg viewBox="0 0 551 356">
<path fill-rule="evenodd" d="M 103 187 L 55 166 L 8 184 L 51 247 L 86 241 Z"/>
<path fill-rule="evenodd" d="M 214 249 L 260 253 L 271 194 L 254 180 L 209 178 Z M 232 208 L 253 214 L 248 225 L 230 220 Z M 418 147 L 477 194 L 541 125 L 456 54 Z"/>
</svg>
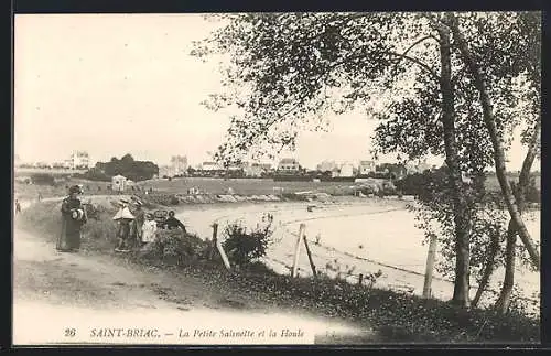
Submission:
<svg viewBox="0 0 551 356">
<path fill-rule="evenodd" d="M 224 228 L 225 240 L 222 244 L 231 265 L 239 267 L 248 266 L 253 260 L 266 256 L 266 250 L 271 242 L 271 223 L 273 217 L 264 215 L 262 227 L 247 231 L 247 228 L 238 223 L 228 224 Z"/>
</svg>

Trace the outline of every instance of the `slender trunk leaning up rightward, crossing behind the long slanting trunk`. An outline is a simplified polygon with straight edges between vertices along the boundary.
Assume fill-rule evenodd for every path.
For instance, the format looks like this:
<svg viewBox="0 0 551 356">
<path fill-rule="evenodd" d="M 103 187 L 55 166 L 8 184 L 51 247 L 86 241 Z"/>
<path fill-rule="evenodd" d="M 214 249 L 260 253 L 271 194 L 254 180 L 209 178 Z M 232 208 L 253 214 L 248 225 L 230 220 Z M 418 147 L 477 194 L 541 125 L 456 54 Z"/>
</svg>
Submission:
<svg viewBox="0 0 551 356">
<path fill-rule="evenodd" d="M 528 145 L 528 152 L 526 153 L 525 161 L 522 162 L 522 169 L 519 175 L 518 185 L 514 188 L 517 192 L 517 202 L 519 202 L 519 211 L 522 213 L 525 205 L 525 195 L 530 183 L 530 171 L 532 169 L 533 161 L 537 154 L 537 145 L 540 140 L 540 129 L 541 119 L 536 122 L 533 128 L 532 137 L 530 138 L 530 143 Z M 505 277 L 504 284 L 501 285 L 501 291 L 499 292 L 499 298 L 496 301 L 495 308 L 501 313 L 507 313 L 509 305 L 511 303 L 512 287 L 515 285 L 515 246 L 517 244 L 517 228 L 515 222 L 509 220 L 509 227 L 507 228 L 507 241 L 505 247 Z"/>
</svg>

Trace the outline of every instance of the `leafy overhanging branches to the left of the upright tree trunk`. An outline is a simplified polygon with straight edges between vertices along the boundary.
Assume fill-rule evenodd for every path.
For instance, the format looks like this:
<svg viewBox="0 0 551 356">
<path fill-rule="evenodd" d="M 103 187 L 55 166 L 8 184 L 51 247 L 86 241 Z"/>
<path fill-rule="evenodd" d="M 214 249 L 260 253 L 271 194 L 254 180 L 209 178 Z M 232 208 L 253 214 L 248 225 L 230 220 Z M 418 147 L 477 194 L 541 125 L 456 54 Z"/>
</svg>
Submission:
<svg viewBox="0 0 551 356">
<path fill-rule="evenodd" d="M 220 159 L 261 143 L 292 147 L 296 134 L 278 128 L 309 122 L 312 116 L 328 110 L 350 110 L 358 98 L 366 98 L 355 89 L 381 75 L 385 82 L 393 82 L 390 74 L 399 76 L 400 71 L 390 68 L 398 52 L 388 33 L 402 22 L 400 17 L 380 13 L 235 17 L 213 42 L 203 43 L 208 51 L 198 46 L 193 52 L 199 56 L 230 54 L 226 79 L 234 87 L 246 88 L 228 93 L 224 99 L 213 98 L 212 108 L 231 101 L 242 111 L 233 121 Z M 345 97 L 346 91 L 354 97 Z"/>
</svg>

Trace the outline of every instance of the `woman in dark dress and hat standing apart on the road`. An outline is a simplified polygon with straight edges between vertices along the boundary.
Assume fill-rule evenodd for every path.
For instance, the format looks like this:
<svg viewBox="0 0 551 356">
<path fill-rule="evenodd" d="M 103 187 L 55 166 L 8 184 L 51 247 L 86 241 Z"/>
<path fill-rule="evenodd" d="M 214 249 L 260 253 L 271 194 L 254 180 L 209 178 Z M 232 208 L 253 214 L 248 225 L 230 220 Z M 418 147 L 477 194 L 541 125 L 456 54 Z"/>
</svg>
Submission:
<svg viewBox="0 0 551 356">
<path fill-rule="evenodd" d="M 80 248 L 80 231 L 86 224 L 86 212 L 78 199 L 80 187 L 73 185 L 68 193 L 62 202 L 62 233 L 56 246 L 56 249 L 63 252 L 77 251 Z"/>
</svg>

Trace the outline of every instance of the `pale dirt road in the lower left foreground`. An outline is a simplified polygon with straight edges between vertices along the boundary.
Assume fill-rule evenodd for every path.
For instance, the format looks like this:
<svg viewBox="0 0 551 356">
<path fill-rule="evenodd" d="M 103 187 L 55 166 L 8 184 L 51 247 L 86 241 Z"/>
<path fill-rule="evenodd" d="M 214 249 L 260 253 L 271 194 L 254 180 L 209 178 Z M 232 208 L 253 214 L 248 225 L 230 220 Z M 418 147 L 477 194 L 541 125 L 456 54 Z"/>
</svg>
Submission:
<svg viewBox="0 0 551 356">
<path fill-rule="evenodd" d="M 90 253 L 61 253 L 37 236 L 14 230 L 14 344 L 312 344 L 377 339 L 370 330 L 209 285 L 208 278 L 137 267 L 115 256 Z"/>
</svg>

